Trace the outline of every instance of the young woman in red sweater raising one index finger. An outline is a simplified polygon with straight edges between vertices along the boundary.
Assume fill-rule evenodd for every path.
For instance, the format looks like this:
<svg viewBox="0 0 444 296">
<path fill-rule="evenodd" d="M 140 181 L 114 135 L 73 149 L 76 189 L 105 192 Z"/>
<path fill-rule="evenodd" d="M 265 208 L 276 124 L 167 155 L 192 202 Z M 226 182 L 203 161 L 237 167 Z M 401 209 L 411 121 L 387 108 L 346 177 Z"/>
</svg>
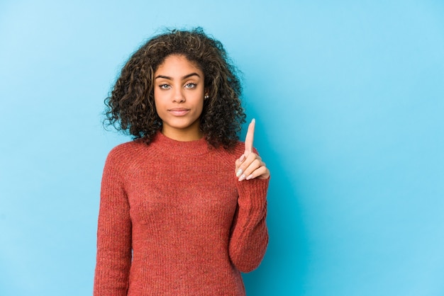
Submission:
<svg viewBox="0 0 444 296">
<path fill-rule="evenodd" d="M 172 30 L 128 60 L 107 120 L 133 135 L 106 159 L 94 295 L 245 295 L 267 249 L 270 171 L 245 143 L 240 81 L 203 30 Z"/>
</svg>

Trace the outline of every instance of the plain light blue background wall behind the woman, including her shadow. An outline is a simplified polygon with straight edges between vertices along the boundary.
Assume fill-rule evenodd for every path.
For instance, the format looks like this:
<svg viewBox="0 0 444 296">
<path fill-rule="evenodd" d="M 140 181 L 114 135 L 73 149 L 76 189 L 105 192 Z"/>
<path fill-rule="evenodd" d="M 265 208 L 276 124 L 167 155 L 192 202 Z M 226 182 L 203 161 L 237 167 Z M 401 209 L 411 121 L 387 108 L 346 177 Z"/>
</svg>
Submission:
<svg viewBox="0 0 444 296">
<path fill-rule="evenodd" d="M 1 1 L 0 295 L 91 295 L 131 52 L 204 27 L 272 171 L 249 295 L 444 295 L 443 1 Z M 245 130 L 243 132 L 245 135 Z"/>
</svg>

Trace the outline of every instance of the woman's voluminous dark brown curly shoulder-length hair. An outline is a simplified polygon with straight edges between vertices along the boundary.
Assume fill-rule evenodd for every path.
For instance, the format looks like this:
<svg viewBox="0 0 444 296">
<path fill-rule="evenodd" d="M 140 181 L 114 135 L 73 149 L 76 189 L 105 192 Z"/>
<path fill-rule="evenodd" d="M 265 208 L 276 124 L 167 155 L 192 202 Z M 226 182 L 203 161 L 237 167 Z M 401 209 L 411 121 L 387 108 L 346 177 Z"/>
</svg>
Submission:
<svg viewBox="0 0 444 296">
<path fill-rule="evenodd" d="M 240 103 L 242 87 L 238 69 L 229 59 L 222 43 L 202 28 L 168 30 L 145 42 L 128 59 L 111 95 L 105 99 L 108 125 L 149 144 L 162 128 L 155 108 L 154 74 L 169 55 L 183 55 L 204 72 L 204 101 L 200 130 L 213 147 L 234 147 L 245 123 Z"/>
</svg>

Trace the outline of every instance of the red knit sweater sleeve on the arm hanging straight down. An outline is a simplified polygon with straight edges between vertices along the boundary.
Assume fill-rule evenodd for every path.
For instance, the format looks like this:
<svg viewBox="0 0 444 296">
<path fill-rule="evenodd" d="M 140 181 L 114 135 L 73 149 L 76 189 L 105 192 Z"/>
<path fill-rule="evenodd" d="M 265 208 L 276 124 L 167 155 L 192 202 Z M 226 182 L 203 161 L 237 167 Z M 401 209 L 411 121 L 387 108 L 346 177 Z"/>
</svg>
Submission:
<svg viewBox="0 0 444 296">
<path fill-rule="evenodd" d="M 106 159 L 101 181 L 94 295 L 126 295 L 131 267 L 131 219 L 121 157 Z"/>
</svg>

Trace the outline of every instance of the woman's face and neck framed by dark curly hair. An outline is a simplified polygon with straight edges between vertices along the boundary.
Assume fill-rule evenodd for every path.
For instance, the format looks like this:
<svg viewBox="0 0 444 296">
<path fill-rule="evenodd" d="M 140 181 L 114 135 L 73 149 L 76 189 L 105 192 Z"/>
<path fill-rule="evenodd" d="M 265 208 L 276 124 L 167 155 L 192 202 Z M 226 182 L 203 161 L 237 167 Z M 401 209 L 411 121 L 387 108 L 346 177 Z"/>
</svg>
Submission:
<svg viewBox="0 0 444 296">
<path fill-rule="evenodd" d="M 204 107 L 204 73 L 183 55 L 170 55 L 154 74 L 154 101 L 162 134 L 179 141 L 198 140 Z"/>
</svg>

